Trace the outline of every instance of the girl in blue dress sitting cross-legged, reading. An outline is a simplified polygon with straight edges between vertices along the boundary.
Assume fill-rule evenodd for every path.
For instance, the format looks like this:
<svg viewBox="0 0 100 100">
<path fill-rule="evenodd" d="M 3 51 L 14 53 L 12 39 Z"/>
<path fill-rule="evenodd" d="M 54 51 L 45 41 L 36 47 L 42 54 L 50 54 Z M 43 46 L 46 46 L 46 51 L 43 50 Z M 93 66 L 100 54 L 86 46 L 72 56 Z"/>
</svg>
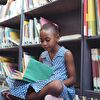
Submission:
<svg viewBox="0 0 100 100">
<path fill-rule="evenodd" d="M 41 46 L 45 51 L 40 55 L 39 61 L 53 67 L 52 76 L 47 80 L 33 83 L 13 81 L 8 78 L 7 82 L 13 95 L 7 95 L 10 99 L 44 100 L 45 96 L 46 100 L 48 97 L 52 100 L 56 97 L 63 98 L 63 100 L 74 98 L 73 85 L 76 74 L 73 55 L 71 51 L 58 44 L 59 34 L 58 27 L 52 23 L 44 24 L 40 30 Z"/>
</svg>

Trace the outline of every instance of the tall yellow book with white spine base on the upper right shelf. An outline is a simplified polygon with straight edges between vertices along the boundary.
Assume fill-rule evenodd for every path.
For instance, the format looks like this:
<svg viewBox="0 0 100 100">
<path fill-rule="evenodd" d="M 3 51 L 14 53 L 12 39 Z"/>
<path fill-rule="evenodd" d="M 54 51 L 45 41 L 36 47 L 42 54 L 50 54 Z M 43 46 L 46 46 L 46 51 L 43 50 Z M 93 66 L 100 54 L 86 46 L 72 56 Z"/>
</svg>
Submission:
<svg viewBox="0 0 100 100">
<path fill-rule="evenodd" d="M 95 0 L 88 0 L 88 36 L 95 35 L 97 35 Z"/>
</svg>

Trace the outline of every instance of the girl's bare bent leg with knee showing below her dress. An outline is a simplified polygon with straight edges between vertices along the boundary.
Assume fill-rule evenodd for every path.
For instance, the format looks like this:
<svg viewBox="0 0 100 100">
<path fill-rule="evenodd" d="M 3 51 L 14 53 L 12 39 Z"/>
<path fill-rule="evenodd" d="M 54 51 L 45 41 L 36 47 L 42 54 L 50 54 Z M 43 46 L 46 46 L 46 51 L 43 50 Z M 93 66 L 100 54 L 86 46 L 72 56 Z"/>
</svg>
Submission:
<svg viewBox="0 0 100 100">
<path fill-rule="evenodd" d="M 43 100 L 47 94 L 58 97 L 63 91 L 63 83 L 60 80 L 54 80 L 46 85 L 39 93 L 30 93 L 28 100 Z"/>
</svg>

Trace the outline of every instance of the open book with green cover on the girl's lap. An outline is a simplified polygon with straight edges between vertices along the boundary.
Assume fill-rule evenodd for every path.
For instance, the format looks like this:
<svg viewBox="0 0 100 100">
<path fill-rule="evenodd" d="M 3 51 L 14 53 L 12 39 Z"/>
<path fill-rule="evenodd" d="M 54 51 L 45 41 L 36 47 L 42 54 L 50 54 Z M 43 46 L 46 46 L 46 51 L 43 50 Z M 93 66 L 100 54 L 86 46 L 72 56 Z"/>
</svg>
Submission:
<svg viewBox="0 0 100 100">
<path fill-rule="evenodd" d="M 24 54 L 23 71 L 15 71 L 9 77 L 17 80 L 34 82 L 49 79 L 53 73 L 52 67 L 35 60 L 32 56 Z M 6 71 L 5 71 L 6 72 Z"/>
</svg>

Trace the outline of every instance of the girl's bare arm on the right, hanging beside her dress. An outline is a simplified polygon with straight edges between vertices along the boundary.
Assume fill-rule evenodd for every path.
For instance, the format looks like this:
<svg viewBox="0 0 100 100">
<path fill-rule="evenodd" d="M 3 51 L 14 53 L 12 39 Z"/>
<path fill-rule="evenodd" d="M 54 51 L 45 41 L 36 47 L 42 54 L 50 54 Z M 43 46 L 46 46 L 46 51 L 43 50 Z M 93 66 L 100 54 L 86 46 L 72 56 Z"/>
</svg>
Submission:
<svg viewBox="0 0 100 100">
<path fill-rule="evenodd" d="M 68 79 L 64 80 L 66 86 L 72 86 L 76 82 L 76 72 L 74 65 L 74 58 L 71 51 L 65 53 L 66 69 L 68 71 Z"/>
</svg>

